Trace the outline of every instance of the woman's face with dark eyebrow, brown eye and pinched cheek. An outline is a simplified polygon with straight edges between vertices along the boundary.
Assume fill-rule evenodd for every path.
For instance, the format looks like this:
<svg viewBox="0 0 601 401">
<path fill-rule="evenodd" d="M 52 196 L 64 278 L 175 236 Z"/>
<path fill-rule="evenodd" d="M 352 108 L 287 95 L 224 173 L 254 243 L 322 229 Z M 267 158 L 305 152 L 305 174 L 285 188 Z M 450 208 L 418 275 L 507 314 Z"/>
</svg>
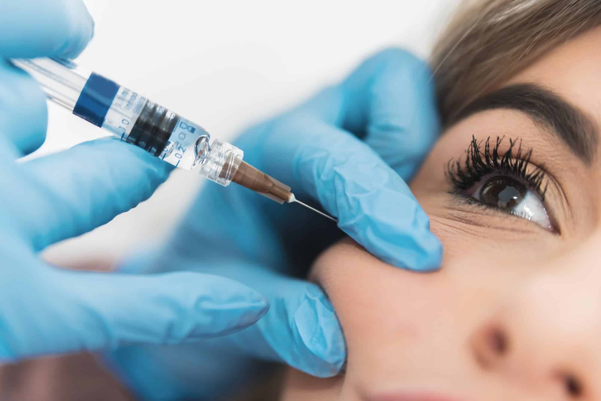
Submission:
<svg viewBox="0 0 601 401">
<path fill-rule="evenodd" d="M 317 260 L 347 369 L 291 370 L 284 400 L 601 399 L 599 49 L 601 28 L 557 47 L 436 143 L 411 188 L 441 271 L 391 267 L 350 240 Z"/>
</svg>

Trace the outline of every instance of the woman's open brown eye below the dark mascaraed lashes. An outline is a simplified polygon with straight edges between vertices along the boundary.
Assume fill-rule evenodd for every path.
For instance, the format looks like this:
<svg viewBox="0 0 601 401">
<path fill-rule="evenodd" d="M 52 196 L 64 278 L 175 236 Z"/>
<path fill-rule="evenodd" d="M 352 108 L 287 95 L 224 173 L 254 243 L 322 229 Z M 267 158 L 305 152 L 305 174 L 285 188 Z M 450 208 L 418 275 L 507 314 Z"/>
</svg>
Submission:
<svg viewBox="0 0 601 401">
<path fill-rule="evenodd" d="M 468 194 L 485 205 L 507 210 L 543 228 L 553 229 L 540 197 L 517 179 L 499 175 L 485 178 L 475 184 Z"/>
</svg>

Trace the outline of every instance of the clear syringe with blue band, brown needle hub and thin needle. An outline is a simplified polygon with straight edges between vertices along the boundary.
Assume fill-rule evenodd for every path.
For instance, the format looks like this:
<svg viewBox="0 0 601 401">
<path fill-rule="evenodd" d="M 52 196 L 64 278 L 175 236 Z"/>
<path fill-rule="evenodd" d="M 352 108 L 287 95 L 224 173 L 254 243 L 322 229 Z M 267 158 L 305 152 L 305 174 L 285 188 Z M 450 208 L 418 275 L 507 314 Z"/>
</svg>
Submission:
<svg viewBox="0 0 601 401">
<path fill-rule="evenodd" d="M 12 62 L 34 77 L 53 103 L 175 167 L 198 167 L 201 176 L 224 187 L 233 181 L 279 204 L 297 202 L 337 221 L 297 200 L 288 185 L 243 161 L 241 149 L 211 139 L 200 125 L 138 92 L 69 60 L 36 58 Z"/>
</svg>

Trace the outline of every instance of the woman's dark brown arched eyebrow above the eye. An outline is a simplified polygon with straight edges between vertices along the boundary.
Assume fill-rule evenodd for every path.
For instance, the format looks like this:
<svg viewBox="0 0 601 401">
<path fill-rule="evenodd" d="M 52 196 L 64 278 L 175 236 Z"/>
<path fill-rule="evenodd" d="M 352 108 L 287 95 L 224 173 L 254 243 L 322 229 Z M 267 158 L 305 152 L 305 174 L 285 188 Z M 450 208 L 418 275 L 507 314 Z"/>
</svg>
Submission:
<svg viewBox="0 0 601 401">
<path fill-rule="evenodd" d="M 559 95 L 531 83 L 511 85 L 480 97 L 459 113 L 455 122 L 484 110 L 510 109 L 526 113 L 590 166 L 596 157 L 599 129 L 586 113 Z"/>
</svg>

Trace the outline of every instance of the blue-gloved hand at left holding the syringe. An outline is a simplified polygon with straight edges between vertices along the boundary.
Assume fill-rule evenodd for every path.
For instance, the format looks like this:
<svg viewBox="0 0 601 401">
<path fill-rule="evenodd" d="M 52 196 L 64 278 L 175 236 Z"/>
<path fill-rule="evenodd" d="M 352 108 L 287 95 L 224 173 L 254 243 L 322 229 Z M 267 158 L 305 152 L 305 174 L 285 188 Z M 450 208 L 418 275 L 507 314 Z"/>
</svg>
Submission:
<svg viewBox="0 0 601 401">
<path fill-rule="evenodd" d="M 49 244 L 147 199 L 168 164 L 118 140 L 15 163 L 44 142 L 46 98 L 5 58 L 78 55 L 93 35 L 80 0 L 4 2 L 0 13 L 0 362 L 123 343 L 231 333 L 266 310 L 252 289 L 193 272 L 131 276 L 59 270 Z"/>
</svg>

